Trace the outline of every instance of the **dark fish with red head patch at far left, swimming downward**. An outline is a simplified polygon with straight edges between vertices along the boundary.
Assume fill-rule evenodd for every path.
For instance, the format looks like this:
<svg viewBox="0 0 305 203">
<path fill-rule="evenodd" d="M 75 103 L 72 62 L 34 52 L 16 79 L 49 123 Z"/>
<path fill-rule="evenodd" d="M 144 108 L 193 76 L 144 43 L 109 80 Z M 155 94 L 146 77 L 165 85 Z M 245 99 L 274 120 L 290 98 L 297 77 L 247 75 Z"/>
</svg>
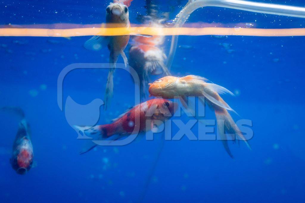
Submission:
<svg viewBox="0 0 305 203">
<path fill-rule="evenodd" d="M 30 126 L 24 117 L 23 110 L 19 107 L 3 107 L 1 110 L 13 112 L 21 117 L 10 163 L 18 174 L 26 174 L 31 169 L 34 159 Z"/>
</svg>

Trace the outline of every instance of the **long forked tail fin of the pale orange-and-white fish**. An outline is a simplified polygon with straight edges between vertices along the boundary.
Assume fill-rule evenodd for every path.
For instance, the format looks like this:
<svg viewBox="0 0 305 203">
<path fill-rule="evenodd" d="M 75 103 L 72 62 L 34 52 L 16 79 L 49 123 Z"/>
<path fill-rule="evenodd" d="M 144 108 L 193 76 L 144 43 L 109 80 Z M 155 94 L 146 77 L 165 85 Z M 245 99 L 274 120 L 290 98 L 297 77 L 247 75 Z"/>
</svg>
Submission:
<svg viewBox="0 0 305 203">
<path fill-rule="evenodd" d="M 228 146 L 226 134 L 233 134 L 232 139 L 235 140 L 235 135 L 238 135 L 239 138 L 241 138 L 243 141 L 245 141 L 247 147 L 251 149 L 248 141 L 246 138 L 243 136 L 242 132 L 238 128 L 238 126 L 235 124 L 233 118 L 231 115 L 228 113 L 226 109 L 222 110 L 217 110 L 215 109 L 215 115 L 216 115 L 216 120 L 217 120 L 217 130 L 218 130 L 218 135 L 221 138 L 222 144 L 224 145 L 225 150 L 228 152 L 228 154 L 233 158 L 233 155 L 231 154 L 231 151 Z"/>
</svg>

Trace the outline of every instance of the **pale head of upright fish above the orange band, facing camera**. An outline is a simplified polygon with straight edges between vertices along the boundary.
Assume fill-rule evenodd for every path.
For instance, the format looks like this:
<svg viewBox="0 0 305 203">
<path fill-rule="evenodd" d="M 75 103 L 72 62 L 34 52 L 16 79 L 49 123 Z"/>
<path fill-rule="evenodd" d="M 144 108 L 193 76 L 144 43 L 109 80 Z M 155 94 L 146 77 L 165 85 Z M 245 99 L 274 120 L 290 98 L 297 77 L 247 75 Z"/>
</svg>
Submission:
<svg viewBox="0 0 305 203">
<path fill-rule="evenodd" d="M 128 7 L 122 3 L 110 3 L 106 7 L 106 23 L 108 27 L 118 27 L 117 24 L 124 27 L 129 25 Z"/>
</svg>

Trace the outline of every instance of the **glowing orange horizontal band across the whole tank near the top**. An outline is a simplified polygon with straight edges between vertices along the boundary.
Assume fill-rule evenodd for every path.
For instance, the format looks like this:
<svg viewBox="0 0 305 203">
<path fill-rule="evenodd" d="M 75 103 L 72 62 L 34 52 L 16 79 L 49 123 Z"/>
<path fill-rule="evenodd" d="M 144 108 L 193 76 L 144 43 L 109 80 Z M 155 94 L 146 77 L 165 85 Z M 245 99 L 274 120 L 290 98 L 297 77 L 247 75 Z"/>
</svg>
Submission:
<svg viewBox="0 0 305 203">
<path fill-rule="evenodd" d="M 157 28 L 157 27 L 131 27 L 131 28 L 74 28 L 74 29 L 38 29 L 38 28 L 0 28 L 0 36 L 16 37 L 76 37 L 76 36 L 115 36 L 126 34 L 146 35 L 243 35 L 243 36 L 305 36 L 305 28 L 291 29 L 257 29 L 257 28 Z"/>
</svg>

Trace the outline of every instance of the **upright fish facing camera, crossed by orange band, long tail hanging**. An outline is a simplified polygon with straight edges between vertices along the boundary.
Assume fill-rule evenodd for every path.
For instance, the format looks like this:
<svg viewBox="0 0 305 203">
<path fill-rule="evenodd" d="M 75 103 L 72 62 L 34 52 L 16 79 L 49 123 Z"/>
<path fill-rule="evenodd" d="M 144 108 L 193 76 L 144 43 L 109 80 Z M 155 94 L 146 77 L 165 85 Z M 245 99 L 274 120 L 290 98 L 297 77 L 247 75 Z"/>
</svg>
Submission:
<svg viewBox="0 0 305 203">
<path fill-rule="evenodd" d="M 116 27 L 130 27 L 129 22 L 129 10 L 128 6 L 132 0 L 114 0 L 114 3 L 106 7 L 106 28 L 116 28 Z M 137 35 L 137 33 L 135 33 Z M 146 35 L 141 35 L 146 36 Z M 146 36 L 150 37 L 150 36 Z M 91 39 L 87 40 L 84 47 L 91 50 L 100 50 L 102 47 L 107 46 L 110 51 L 109 63 L 110 69 L 107 77 L 106 92 L 105 92 L 105 110 L 109 106 L 111 99 L 113 97 L 113 73 L 116 67 L 116 63 L 119 55 L 122 56 L 124 60 L 125 67 L 128 65 L 128 59 L 124 53 L 130 35 L 122 36 L 93 36 Z"/>
</svg>

